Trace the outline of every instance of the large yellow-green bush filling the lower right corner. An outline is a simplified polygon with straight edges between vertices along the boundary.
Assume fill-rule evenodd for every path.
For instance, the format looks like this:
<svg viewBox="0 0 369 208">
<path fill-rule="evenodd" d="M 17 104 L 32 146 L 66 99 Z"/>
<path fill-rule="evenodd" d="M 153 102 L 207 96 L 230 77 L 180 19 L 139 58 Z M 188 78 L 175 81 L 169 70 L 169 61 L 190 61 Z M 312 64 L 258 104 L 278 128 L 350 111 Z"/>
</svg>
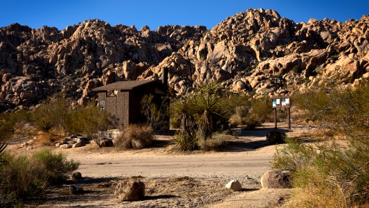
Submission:
<svg viewBox="0 0 369 208">
<path fill-rule="evenodd" d="M 313 146 L 287 139 L 287 146 L 274 155 L 273 168 L 293 173 L 293 185 L 299 189 L 292 201 L 299 207 L 361 205 L 369 198 L 369 144 L 366 139 L 360 143 L 352 140 L 348 147 L 335 143 Z"/>
</svg>

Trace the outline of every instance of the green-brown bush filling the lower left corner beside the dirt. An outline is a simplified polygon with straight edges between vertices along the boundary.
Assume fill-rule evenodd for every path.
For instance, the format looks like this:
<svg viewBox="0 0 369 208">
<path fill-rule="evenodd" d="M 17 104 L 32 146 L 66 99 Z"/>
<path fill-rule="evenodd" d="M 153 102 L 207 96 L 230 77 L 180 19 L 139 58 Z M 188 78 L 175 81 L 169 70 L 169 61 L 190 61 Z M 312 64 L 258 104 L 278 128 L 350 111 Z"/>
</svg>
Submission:
<svg viewBox="0 0 369 208">
<path fill-rule="evenodd" d="M 78 162 L 66 160 L 62 153 L 42 150 L 30 157 L 3 155 L 0 166 L 0 205 L 12 207 L 25 200 L 39 200 L 48 185 L 59 182 L 78 168 Z"/>
</svg>

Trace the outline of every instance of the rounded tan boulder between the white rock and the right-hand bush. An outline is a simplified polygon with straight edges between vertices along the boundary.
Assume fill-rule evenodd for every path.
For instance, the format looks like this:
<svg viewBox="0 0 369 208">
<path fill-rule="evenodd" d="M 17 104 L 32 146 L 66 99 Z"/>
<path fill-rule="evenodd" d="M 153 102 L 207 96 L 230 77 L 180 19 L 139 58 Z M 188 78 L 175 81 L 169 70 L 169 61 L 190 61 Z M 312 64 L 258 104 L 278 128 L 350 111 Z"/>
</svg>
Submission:
<svg viewBox="0 0 369 208">
<path fill-rule="evenodd" d="M 264 189 L 291 189 L 289 171 L 267 171 L 262 175 L 260 182 Z"/>
</svg>

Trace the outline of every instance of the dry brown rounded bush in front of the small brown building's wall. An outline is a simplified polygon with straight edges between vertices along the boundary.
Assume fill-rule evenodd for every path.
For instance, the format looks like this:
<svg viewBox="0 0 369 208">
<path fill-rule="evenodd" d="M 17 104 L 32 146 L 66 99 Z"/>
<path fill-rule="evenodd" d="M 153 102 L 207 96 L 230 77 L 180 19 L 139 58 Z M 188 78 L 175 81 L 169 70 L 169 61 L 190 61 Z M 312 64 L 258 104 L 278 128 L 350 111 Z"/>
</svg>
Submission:
<svg viewBox="0 0 369 208">
<path fill-rule="evenodd" d="M 149 125 L 127 125 L 122 131 L 123 135 L 114 144 L 119 149 L 147 148 L 154 141 L 154 132 Z"/>
</svg>

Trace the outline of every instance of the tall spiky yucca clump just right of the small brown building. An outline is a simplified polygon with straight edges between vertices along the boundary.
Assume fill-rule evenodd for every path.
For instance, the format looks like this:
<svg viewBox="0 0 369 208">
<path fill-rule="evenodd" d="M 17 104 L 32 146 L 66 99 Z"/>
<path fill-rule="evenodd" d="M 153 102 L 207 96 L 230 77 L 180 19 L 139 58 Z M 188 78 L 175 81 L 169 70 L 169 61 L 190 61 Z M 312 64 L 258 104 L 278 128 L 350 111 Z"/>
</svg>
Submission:
<svg viewBox="0 0 369 208">
<path fill-rule="evenodd" d="M 180 123 L 175 136 L 179 149 L 195 150 L 199 148 L 199 138 L 206 140 L 215 132 L 230 127 L 228 106 L 221 95 L 219 85 L 207 83 L 201 85 L 195 94 L 174 103 L 172 112 Z"/>
</svg>

